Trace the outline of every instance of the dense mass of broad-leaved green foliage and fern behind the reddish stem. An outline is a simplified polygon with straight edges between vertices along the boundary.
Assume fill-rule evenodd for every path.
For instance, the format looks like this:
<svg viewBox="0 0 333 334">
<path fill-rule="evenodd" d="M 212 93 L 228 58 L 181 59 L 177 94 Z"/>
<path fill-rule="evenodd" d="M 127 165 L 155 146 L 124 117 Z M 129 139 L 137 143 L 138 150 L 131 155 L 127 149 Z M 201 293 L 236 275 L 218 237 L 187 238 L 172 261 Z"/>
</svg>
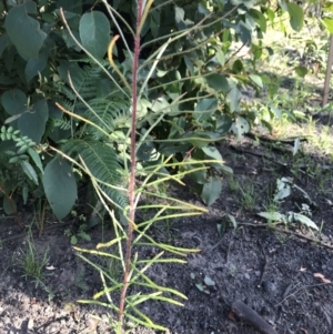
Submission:
<svg viewBox="0 0 333 334">
<path fill-rule="evenodd" d="M 89 175 L 99 180 L 120 211 L 127 205 L 127 194 L 119 188 L 127 185 L 131 164 L 129 88 L 135 6 L 137 1 L 113 1 L 110 7 L 107 1 L 28 0 L 10 1 L 0 9 L 4 18 L 0 37 L 0 124 L 10 124 L 36 143 L 29 150 L 22 144 L 10 163 L 20 166 L 16 173 L 23 178 L 20 184 L 24 200 L 28 191 L 38 188 L 58 217 L 70 212 L 77 198 L 74 182 L 83 181 L 63 176 L 61 182 L 68 183 L 61 185 L 64 199 L 54 196 L 59 181 L 54 183 L 56 176 L 49 172 L 56 172 L 52 166 L 60 161 L 56 156 L 59 149 L 71 159 L 69 172 L 74 164 L 87 164 Z M 155 0 L 151 6 L 140 27 L 138 168 L 159 163 L 170 154 L 174 162 L 190 158 L 195 163 L 202 161 L 205 169 L 193 173 L 192 179 L 198 193 L 211 205 L 221 192 L 221 174 L 231 171 L 222 163 L 204 162 L 212 158 L 204 150 L 212 150 L 214 142 L 230 133 L 241 139 L 254 122 L 261 121 L 260 113 L 253 118 L 253 111 L 243 108 L 242 88 L 251 85 L 259 92 L 274 87 L 274 80 L 255 67 L 263 57 L 261 40 L 269 23 L 283 13 L 300 31 L 303 10 L 284 1 L 279 2 L 275 12 L 269 3 L 255 1 L 181 0 L 174 6 Z M 329 3 L 323 8 L 330 12 Z M 110 36 L 115 33 L 120 33 L 121 42 L 111 50 L 115 67 L 110 67 L 104 58 Z M 238 55 L 235 42 L 251 45 L 251 69 L 249 61 Z M 296 72 L 306 74 L 301 67 Z M 263 120 L 263 124 L 270 128 L 270 122 Z M 82 154 L 74 150 L 77 144 Z M 52 156 L 42 160 L 46 150 Z M 0 155 L 6 152 L 1 149 Z M 192 156 L 188 152 L 193 152 Z M 1 165 L 9 168 L 2 161 Z M 185 169 L 189 171 L 191 164 Z M 11 179 L 17 181 L 17 176 Z M 17 190 L 10 186 L 7 194 L 12 191 Z"/>
</svg>

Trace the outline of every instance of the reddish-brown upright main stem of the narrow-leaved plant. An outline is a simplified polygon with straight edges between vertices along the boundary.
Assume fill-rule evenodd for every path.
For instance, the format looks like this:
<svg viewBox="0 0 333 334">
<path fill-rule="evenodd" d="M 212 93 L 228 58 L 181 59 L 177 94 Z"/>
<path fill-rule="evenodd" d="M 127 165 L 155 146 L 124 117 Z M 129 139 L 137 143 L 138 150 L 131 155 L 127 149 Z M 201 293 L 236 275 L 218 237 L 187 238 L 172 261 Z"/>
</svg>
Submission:
<svg viewBox="0 0 333 334">
<path fill-rule="evenodd" d="M 140 27 L 142 19 L 142 6 L 143 0 L 138 1 L 137 8 L 137 31 L 134 37 L 134 57 L 132 68 L 132 126 L 131 126 L 131 174 L 129 184 L 129 202 L 130 202 L 130 222 L 128 227 L 128 240 L 125 249 L 125 270 L 123 275 L 123 285 L 121 291 L 120 304 L 119 304 L 119 323 L 123 328 L 123 311 L 125 304 L 125 296 L 129 286 L 129 274 L 131 263 L 132 239 L 133 239 L 133 222 L 135 215 L 135 126 L 137 126 L 137 107 L 138 107 L 138 93 L 137 93 L 137 77 L 139 69 L 139 54 L 140 54 Z"/>
</svg>

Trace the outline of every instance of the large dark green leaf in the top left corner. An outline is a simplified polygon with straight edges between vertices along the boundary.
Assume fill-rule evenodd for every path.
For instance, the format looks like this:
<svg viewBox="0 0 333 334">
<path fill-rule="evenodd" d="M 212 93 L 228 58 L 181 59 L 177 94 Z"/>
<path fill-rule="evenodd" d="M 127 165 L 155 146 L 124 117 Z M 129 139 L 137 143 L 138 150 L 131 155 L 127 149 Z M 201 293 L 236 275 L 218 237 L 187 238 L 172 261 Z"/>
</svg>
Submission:
<svg viewBox="0 0 333 334">
<path fill-rule="evenodd" d="M 37 59 L 47 38 L 47 33 L 40 29 L 39 21 L 28 13 L 37 13 L 37 4 L 33 1 L 12 7 L 4 21 L 10 40 L 24 60 Z"/>
</svg>

